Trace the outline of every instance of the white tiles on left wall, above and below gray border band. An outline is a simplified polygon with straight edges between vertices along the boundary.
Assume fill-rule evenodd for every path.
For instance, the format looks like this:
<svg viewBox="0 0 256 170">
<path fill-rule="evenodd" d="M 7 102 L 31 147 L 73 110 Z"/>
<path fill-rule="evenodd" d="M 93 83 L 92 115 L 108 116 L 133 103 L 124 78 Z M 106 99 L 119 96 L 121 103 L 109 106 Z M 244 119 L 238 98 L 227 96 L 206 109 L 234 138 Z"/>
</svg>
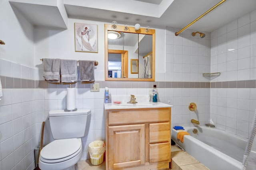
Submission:
<svg viewBox="0 0 256 170">
<path fill-rule="evenodd" d="M 30 72 L 34 71 L 32 68 L 0 59 L 1 76 L 34 80 L 30 76 Z M 41 91 L 3 89 L 4 98 L 0 102 L 0 170 L 32 170 L 35 167 L 34 148 L 38 145 L 42 119 L 37 118 L 40 119 L 40 126 L 34 127 L 36 122 L 32 121 L 32 117 L 35 117 L 36 112 L 32 105 L 36 99 L 42 98 Z M 36 128 L 39 129 L 38 133 L 32 135 L 32 129 L 34 131 Z"/>
</svg>

